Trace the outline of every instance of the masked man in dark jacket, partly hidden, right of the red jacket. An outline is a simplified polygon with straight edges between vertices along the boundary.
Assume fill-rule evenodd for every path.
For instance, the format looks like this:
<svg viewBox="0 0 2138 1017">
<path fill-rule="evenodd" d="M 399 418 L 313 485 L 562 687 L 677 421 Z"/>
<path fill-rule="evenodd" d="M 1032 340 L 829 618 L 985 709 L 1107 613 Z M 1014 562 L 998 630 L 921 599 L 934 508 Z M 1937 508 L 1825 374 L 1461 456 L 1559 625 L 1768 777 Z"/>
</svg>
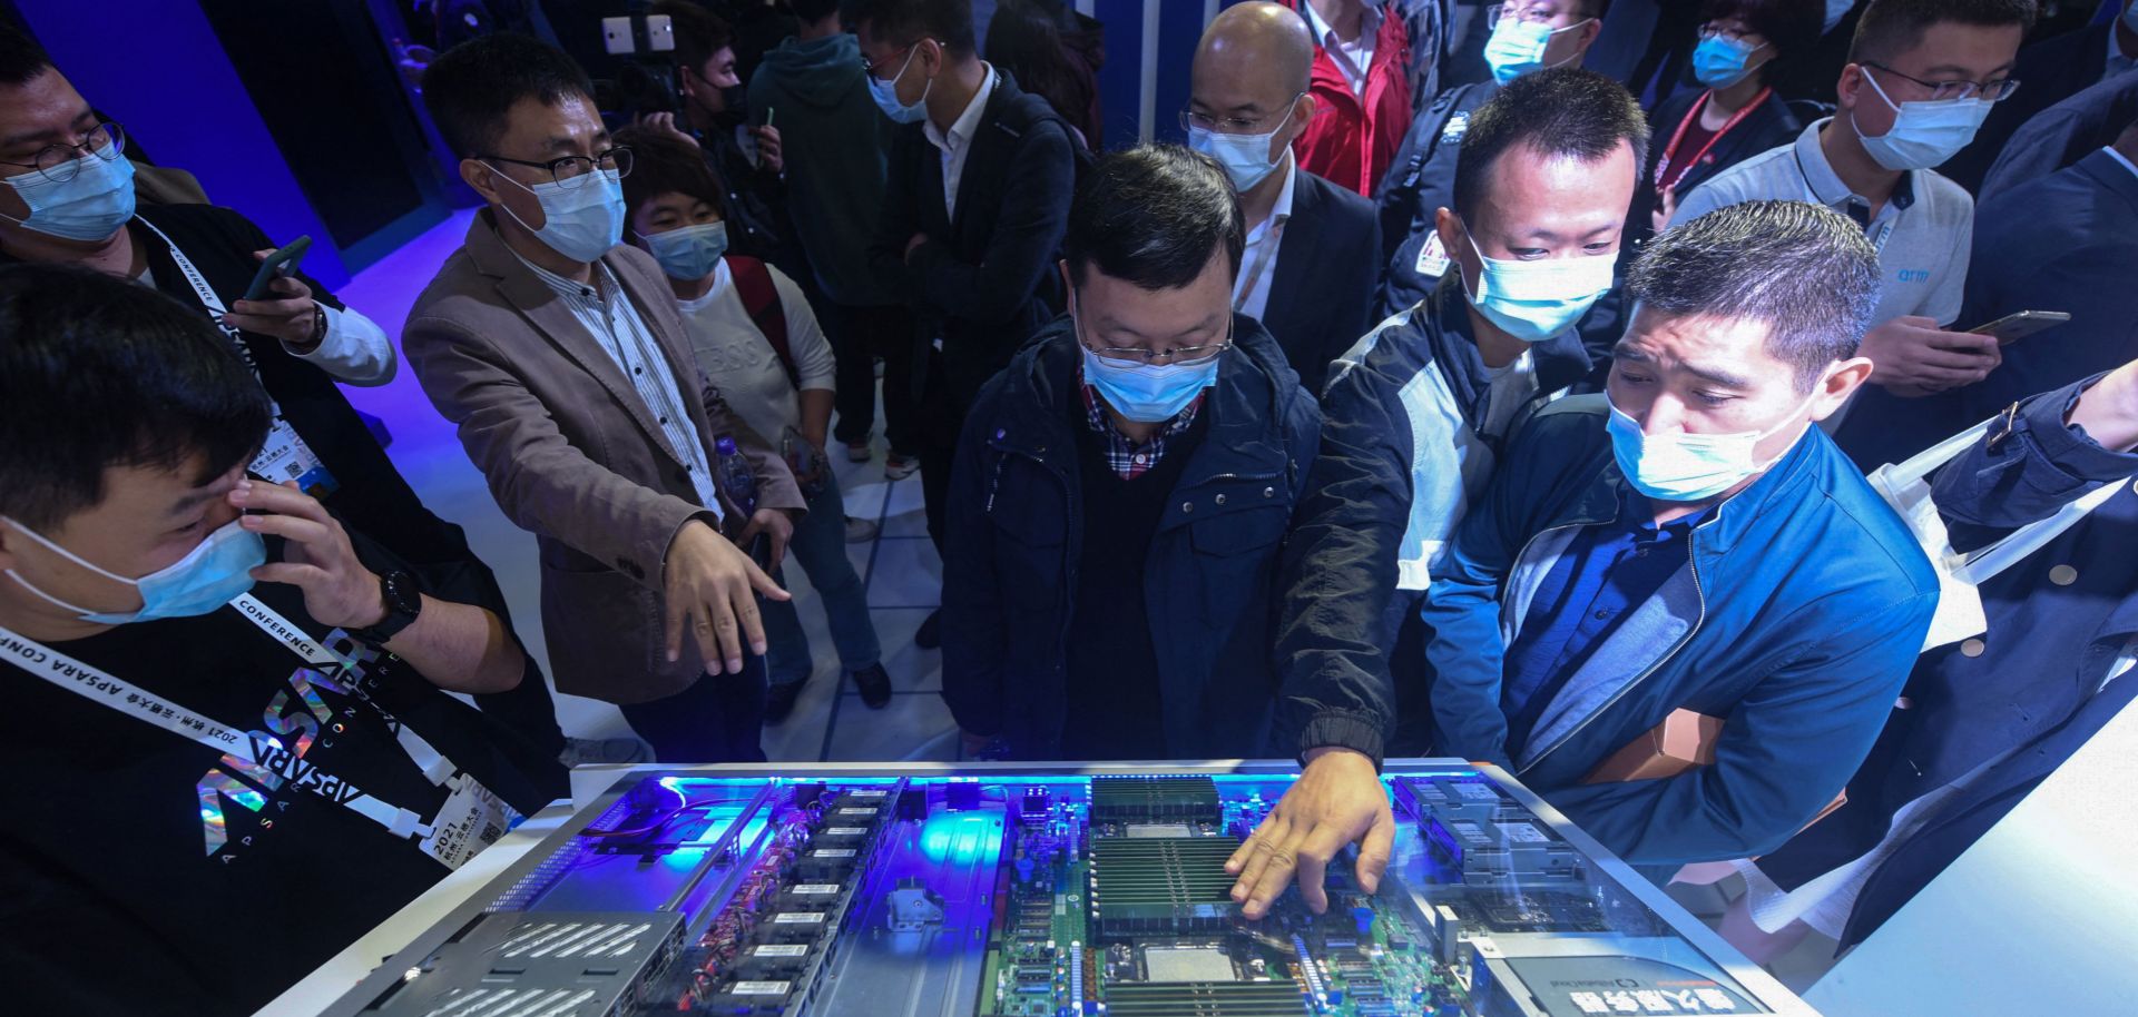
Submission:
<svg viewBox="0 0 2138 1017">
<path fill-rule="evenodd" d="M 1403 135 L 1403 147 L 1375 190 L 1381 216 L 1381 261 L 1388 265 L 1379 316 L 1396 314 L 1432 293 L 1447 273 L 1450 250 L 1439 237 L 1439 209 L 1452 201 L 1456 160 L 1477 107 L 1501 88 L 1544 68 L 1582 66 L 1604 28 L 1610 0 L 1516 0 L 1492 6 L 1486 62 L 1492 81 L 1441 92 Z"/>
</svg>

